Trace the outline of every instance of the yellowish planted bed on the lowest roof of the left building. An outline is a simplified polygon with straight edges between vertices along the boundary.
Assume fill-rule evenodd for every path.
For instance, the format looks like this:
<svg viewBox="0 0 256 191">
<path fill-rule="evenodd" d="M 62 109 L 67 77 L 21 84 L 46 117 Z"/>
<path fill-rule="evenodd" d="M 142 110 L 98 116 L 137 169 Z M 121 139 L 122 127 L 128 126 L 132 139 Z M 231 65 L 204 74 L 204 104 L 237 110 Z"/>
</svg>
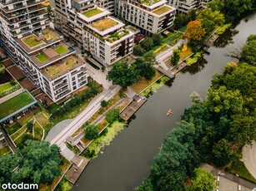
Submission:
<svg viewBox="0 0 256 191">
<path fill-rule="evenodd" d="M 63 61 L 62 64 L 57 64 L 49 66 L 46 71 L 50 76 L 56 76 L 63 71 L 67 71 L 78 63 L 78 61 L 73 57 L 68 57 Z"/>
</svg>

